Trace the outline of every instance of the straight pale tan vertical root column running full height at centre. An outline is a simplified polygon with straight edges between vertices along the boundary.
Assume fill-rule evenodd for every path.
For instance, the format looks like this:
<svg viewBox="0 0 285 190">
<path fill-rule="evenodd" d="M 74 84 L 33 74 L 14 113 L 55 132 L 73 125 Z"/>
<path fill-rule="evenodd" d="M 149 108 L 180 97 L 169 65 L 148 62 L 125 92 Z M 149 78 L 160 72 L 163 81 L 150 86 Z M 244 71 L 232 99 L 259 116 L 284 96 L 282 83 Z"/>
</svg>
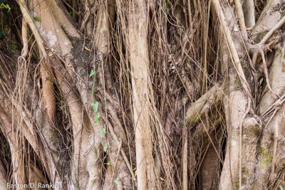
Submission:
<svg viewBox="0 0 285 190">
<path fill-rule="evenodd" d="M 128 39 L 132 72 L 138 189 L 157 189 L 152 158 L 152 132 L 150 127 L 147 4 L 143 0 L 134 0 L 130 2 L 129 6 Z"/>
</svg>

